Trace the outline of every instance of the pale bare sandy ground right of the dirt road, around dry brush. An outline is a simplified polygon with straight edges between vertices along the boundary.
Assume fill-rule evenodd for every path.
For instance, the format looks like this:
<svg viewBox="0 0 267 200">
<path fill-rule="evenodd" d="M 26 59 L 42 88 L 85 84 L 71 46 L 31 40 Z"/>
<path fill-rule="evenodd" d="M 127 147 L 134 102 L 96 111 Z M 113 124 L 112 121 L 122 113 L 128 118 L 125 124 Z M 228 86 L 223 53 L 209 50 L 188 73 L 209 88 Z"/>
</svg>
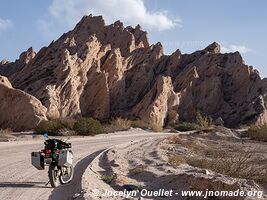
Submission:
<svg viewBox="0 0 267 200">
<path fill-rule="evenodd" d="M 218 148 L 224 145 L 241 145 L 242 148 L 254 146 L 262 152 L 267 153 L 264 143 L 242 143 L 234 135 L 212 133 L 208 136 L 186 136 L 188 144 L 202 141 L 203 144 Z M 209 141 L 209 143 L 208 143 Z M 256 146 L 255 146 L 256 145 Z M 183 145 L 169 144 L 165 138 L 148 138 L 139 142 L 118 145 L 97 156 L 84 173 L 82 187 L 86 191 L 86 200 L 90 199 L 124 199 L 120 197 L 106 197 L 105 191 L 132 191 L 143 188 L 152 191 L 173 189 L 175 192 L 181 190 L 229 190 L 235 191 L 257 191 L 265 190 L 252 181 L 236 179 L 211 170 L 193 167 L 188 164 L 180 164 L 178 167 L 170 165 L 169 153 L 176 152 L 191 154 L 189 149 Z M 90 180 L 94 179 L 94 182 Z M 106 181 L 106 182 L 105 182 Z M 107 182 L 108 181 L 108 182 Z M 267 199 L 266 191 L 261 199 Z M 140 199 L 140 196 L 130 199 Z M 142 199 L 184 199 L 179 195 L 172 197 L 142 197 Z M 233 198 L 232 198 L 233 199 Z M 244 199 L 244 198 L 234 198 Z M 258 199 L 258 198 L 245 198 Z"/>
</svg>

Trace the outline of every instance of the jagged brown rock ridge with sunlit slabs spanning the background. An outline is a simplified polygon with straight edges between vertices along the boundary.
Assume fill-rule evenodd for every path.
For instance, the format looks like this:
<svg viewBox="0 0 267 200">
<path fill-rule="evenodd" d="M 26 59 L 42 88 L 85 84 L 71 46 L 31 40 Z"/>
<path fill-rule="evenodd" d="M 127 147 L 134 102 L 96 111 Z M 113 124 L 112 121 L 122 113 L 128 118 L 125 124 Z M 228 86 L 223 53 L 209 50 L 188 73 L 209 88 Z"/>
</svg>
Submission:
<svg viewBox="0 0 267 200">
<path fill-rule="evenodd" d="M 164 55 L 139 25 L 105 25 L 101 16 L 83 17 L 37 54 L 30 48 L 14 63 L 2 61 L 0 74 L 39 99 L 49 118 L 122 116 L 163 125 L 192 121 L 199 111 L 227 126 L 267 122 L 267 82 L 239 52 L 221 54 L 212 43 Z"/>
</svg>

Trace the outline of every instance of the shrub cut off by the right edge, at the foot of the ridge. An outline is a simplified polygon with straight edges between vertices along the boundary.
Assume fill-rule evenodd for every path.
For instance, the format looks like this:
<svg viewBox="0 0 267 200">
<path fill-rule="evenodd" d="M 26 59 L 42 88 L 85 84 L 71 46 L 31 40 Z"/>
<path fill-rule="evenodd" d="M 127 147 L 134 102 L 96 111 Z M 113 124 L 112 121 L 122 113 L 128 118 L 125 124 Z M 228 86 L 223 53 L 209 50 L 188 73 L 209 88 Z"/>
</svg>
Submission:
<svg viewBox="0 0 267 200">
<path fill-rule="evenodd" d="M 267 124 L 262 126 L 251 126 L 247 131 L 248 136 L 253 140 L 267 142 Z"/>
</svg>

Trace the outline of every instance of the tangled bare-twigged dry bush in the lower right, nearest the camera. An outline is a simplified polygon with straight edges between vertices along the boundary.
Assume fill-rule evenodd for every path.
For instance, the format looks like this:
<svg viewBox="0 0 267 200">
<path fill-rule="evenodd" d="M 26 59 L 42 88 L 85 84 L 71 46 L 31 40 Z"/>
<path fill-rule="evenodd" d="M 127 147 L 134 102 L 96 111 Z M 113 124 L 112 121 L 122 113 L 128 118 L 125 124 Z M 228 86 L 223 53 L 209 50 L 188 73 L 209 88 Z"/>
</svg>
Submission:
<svg viewBox="0 0 267 200">
<path fill-rule="evenodd" d="M 266 165 L 262 164 L 262 160 L 257 158 L 255 153 L 251 151 L 247 152 L 239 149 L 238 151 L 229 152 L 210 149 L 206 152 L 206 158 L 190 158 L 187 159 L 187 162 L 194 167 L 210 169 L 234 178 L 266 182 Z"/>
</svg>

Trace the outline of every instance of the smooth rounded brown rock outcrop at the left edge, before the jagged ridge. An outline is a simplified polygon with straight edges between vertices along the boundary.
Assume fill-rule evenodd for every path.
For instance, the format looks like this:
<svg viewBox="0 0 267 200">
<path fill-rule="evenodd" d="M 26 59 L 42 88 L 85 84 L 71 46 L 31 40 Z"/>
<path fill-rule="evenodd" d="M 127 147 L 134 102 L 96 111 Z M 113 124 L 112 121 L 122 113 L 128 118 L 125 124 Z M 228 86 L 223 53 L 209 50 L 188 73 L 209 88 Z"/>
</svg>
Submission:
<svg viewBox="0 0 267 200">
<path fill-rule="evenodd" d="M 0 127 L 14 131 L 29 130 L 46 120 L 46 108 L 35 97 L 14 89 L 6 77 L 0 76 Z"/>
</svg>

